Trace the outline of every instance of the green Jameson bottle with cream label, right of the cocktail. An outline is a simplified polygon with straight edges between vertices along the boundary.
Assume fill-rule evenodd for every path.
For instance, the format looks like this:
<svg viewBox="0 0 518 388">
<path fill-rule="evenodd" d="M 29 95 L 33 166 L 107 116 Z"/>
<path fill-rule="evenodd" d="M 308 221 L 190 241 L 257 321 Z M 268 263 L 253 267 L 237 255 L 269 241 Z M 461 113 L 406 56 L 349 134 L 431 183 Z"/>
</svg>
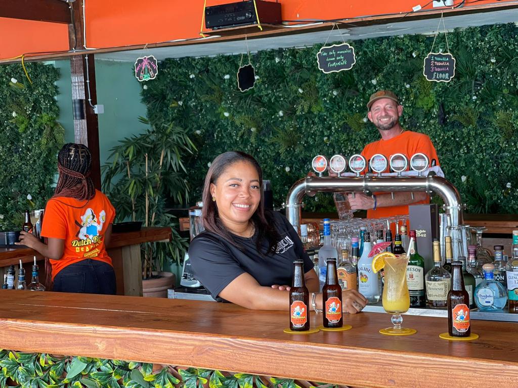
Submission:
<svg viewBox="0 0 518 388">
<path fill-rule="evenodd" d="M 412 240 L 413 238 L 413 240 Z M 410 294 L 410 307 L 425 307 L 424 259 L 418 252 L 415 230 L 410 231 L 410 258 L 407 265 L 407 285 Z"/>
</svg>

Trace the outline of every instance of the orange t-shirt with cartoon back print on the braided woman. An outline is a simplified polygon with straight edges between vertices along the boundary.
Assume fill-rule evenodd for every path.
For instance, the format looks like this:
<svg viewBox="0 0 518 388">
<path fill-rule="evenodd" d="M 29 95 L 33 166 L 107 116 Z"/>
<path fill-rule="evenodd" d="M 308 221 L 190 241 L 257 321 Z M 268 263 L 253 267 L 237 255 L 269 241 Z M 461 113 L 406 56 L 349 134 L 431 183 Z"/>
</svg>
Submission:
<svg viewBox="0 0 518 388">
<path fill-rule="evenodd" d="M 65 240 L 61 259 L 50 259 L 52 280 L 63 268 L 81 260 L 93 259 L 111 265 L 104 234 L 114 217 L 115 209 L 99 190 L 95 190 L 95 196 L 87 203 L 67 197 L 47 202 L 41 235 Z"/>
</svg>

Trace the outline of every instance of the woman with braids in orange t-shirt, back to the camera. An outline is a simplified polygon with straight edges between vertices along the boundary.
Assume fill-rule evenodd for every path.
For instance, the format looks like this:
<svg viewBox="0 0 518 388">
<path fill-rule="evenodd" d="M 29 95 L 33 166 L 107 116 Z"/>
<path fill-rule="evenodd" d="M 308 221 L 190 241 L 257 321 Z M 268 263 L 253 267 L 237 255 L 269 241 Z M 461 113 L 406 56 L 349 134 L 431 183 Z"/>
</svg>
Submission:
<svg viewBox="0 0 518 388">
<path fill-rule="evenodd" d="M 52 291 L 116 291 L 111 258 L 106 252 L 115 210 L 109 199 L 95 189 L 90 178 L 91 166 L 92 154 L 87 146 L 65 144 L 57 155 L 60 175 L 41 227 L 47 244 L 31 233 L 20 235 L 18 245 L 33 248 L 48 259 Z"/>
</svg>

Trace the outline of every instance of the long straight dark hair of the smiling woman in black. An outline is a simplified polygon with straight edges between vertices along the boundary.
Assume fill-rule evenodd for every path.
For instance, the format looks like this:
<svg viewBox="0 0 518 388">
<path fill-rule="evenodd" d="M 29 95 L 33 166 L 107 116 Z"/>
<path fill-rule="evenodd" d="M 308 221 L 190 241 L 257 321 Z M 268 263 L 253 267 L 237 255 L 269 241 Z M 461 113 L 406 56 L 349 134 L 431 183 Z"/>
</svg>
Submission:
<svg viewBox="0 0 518 388">
<path fill-rule="evenodd" d="M 212 195 L 210 193 L 210 185 L 216 184 L 218 178 L 225 172 L 225 170 L 232 166 L 237 162 L 247 162 L 252 165 L 257 171 L 257 175 L 259 176 L 259 188 L 261 190 L 261 201 L 257 206 L 254 214 L 250 218 L 253 222 L 255 231 L 257 232 L 257 241 L 256 247 L 257 251 L 263 255 L 262 252 L 262 244 L 263 241 L 268 241 L 268 250 L 266 254 L 270 252 L 274 252 L 275 246 L 279 241 L 279 232 L 273 225 L 273 222 L 268 222 L 265 217 L 264 210 L 264 193 L 263 193 L 263 170 L 257 163 L 257 160 L 254 159 L 253 156 L 245 154 L 241 151 L 229 151 L 225 152 L 221 155 L 218 155 L 211 163 L 209 171 L 207 171 L 207 175 L 205 176 L 205 185 L 203 188 L 203 211 L 202 218 L 205 229 L 209 232 L 215 233 L 227 240 L 229 243 L 234 246 L 242 249 L 241 244 L 239 244 L 231 231 L 225 227 L 223 222 L 221 221 L 218 214 L 218 206 L 214 201 L 212 201 Z"/>
</svg>

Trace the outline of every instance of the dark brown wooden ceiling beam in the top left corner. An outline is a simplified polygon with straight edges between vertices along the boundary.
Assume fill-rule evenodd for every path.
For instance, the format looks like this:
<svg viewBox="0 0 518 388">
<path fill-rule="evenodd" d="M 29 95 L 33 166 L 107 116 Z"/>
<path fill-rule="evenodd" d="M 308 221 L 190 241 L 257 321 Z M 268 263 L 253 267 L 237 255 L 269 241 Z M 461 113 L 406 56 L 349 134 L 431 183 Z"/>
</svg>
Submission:
<svg viewBox="0 0 518 388">
<path fill-rule="evenodd" d="M 0 18 L 69 24 L 70 10 L 60 0 L 2 0 Z"/>
</svg>

